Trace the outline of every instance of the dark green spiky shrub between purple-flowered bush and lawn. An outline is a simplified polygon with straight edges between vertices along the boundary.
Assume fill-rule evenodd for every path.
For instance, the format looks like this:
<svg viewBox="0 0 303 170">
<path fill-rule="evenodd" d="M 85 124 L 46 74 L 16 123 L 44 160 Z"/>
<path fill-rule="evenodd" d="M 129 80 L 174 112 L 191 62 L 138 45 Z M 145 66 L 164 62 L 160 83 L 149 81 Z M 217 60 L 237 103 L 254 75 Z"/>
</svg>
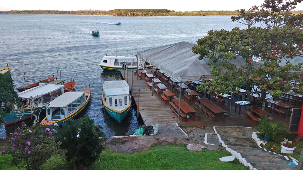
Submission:
<svg viewBox="0 0 303 170">
<path fill-rule="evenodd" d="M 102 127 L 95 125 L 87 115 L 63 123 L 62 129 L 57 127 L 56 136 L 62 142 L 61 148 L 67 150 L 66 160 L 74 165 L 74 169 L 92 164 L 105 149 Z"/>
</svg>

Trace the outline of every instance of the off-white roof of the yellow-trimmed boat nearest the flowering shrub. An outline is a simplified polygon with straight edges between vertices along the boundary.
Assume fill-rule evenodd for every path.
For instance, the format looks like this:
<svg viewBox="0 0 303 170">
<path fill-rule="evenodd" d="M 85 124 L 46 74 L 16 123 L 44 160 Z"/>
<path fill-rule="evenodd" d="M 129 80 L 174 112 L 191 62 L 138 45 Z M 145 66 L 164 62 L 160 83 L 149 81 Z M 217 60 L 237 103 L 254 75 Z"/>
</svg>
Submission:
<svg viewBox="0 0 303 170">
<path fill-rule="evenodd" d="M 51 101 L 48 107 L 65 107 L 81 97 L 84 91 L 68 91 Z"/>
</svg>

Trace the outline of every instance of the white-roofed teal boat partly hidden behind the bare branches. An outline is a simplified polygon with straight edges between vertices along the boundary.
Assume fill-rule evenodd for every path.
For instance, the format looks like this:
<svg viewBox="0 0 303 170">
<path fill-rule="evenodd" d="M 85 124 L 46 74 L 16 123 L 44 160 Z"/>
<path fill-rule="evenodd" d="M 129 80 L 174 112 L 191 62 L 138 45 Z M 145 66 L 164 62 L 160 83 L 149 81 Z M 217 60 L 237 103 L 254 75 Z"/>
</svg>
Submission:
<svg viewBox="0 0 303 170">
<path fill-rule="evenodd" d="M 34 112 L 33 114 L 39 113 L 40 111 L 38 111 L 38 108 L 45 107 L 52 100 L 64 93 L 63 87 L 64 85 L 45 84 L 18 93 L 18 96 L 25 107 L 23 108 L 24 114 L 18 111 L 16 108 L 17 106 L 14 106 L 15 109 L 13 109 L 13 111 L 5 117 L 4 125 L 8 126 L 10 124 L 29 119 L 31 117 L 31 112 Z M 33 97 L 33 100 L 36 101 L 35 108 L 30 107 L 31 104 L 29 98 L 31 97 Z M 43 112 L 45 112 L 45 108 L 42 109 L 42 113 Z"/>
</svg>

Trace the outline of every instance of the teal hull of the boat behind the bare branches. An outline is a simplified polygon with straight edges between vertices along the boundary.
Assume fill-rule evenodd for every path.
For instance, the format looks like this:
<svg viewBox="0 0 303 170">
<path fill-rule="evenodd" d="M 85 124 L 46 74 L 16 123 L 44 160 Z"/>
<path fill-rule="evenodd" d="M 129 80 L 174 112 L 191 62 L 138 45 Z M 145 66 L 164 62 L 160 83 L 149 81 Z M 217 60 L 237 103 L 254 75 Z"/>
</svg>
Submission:
<svg viewBox="0 0 303 170">
<path fill-rule="evenodd" d="M 35 109 L 34 114 L 38 114 L 39 113 L 39 111 L 37 109 Z M 8 126 L 8 125 L 11 125 L 11 124 L 14 124 L 14 123 L 17 123 L 17 122 L 21 122 L 21 121 L 24 121 L 24 120 L 27 120 L 27 119 L 31 118 L 31 115 L 29 115 L 30 111 L 31 111 L 30 108 L 25 109 L 24 112 L 28 113 L 28 114 L 24 114 L 22 117 L 20 117 L 21 115 L 18 114 L 16 111 L 12 111 L 11 114 L 9 114 L 9 115 L 7 115 L 5 117 L 5 123 L 4 123 L 4 125 Z M 42 109 L 41 113 L 45 113 L 45 109 Z"/>
</svg>

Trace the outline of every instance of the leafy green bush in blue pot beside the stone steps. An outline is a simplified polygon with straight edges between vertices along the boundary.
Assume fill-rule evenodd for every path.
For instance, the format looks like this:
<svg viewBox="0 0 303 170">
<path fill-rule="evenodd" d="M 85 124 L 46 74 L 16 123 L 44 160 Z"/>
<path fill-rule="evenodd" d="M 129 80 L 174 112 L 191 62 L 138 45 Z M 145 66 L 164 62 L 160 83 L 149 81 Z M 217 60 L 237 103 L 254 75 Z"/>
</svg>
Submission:
<svg viewBox="0 0 303 170">
<path fill-rule="evenodd" d="M 259 121 L 255 127 L 259 134 L 271 138 L 273 141 L 282 142 L 289 136 L 287 124 L 284 122 L 269 122 L 267 117 Z"/>
</svg>

